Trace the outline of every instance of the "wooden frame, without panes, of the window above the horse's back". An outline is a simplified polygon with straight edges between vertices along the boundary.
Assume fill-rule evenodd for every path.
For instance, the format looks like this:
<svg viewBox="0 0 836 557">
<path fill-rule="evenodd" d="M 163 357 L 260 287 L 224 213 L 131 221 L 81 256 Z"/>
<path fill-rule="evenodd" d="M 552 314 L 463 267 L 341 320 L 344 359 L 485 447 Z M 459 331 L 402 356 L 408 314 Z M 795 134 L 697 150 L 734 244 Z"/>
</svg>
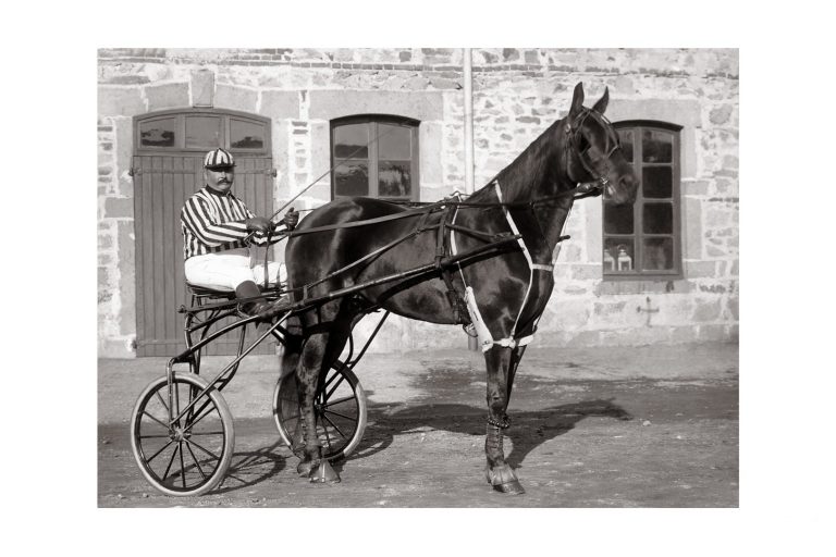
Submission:
<svg viewBox="0 0 836 557">
<path fill-rule="evenodd" d="M 372 143 L 369 144 L 369 157 L 365 160 L 369 163 L 369 189 L 366 196 L 364 197 L 370 197 L 373 199 L 382 199 L 382 200 L 398 200 L 398 201 L 419 201 L 420 195 L 421 195 L 421 187 L 420 187 L 420 161 L 419 161 L 419 126 L 420 121 L 407 117 L 407 116 L 397 116 L 394 114 L 355 114 L 351 116 L 342 116 L 334 119 L 330 122 L 330 144 L 329 144 L 329 158 L 331 161 L 331 199 L 336 199 L 336 180 L 335 174 L 333 170 L 336 168 L 337 159 L 334 157 L 334 134 L 336 132 L 336 128 L 345 125 L 356 125 L 356 124 L 371 124 L 371 129 L 369 131 L 369 137 L 376 138 L 378 137 L 378 125 L 379 124 L 394 124 L 402 127 L 406 127 L 409 129 L 409 133 L 411 134 L 411 149 L 409 153 L 409 178 L 410 178 L 410 191 L 409 191 L 409 198 L 405 197 L 381 197 L 379 195 L 379 187 L 380 183 L 378 180 L 378 171 L 380 168 L 380 154 L 378 151 L 378 141 L 374 141 L 372 139 Z M 372 157 L 373 153 L 373 157 Z M 341 159 L 342 160 L 342 159 Z M 345 159 L 347 160 L 347 159 Z M 339 196 L 339 197 L 352 197 L 352 196 Z"/>
</svg>

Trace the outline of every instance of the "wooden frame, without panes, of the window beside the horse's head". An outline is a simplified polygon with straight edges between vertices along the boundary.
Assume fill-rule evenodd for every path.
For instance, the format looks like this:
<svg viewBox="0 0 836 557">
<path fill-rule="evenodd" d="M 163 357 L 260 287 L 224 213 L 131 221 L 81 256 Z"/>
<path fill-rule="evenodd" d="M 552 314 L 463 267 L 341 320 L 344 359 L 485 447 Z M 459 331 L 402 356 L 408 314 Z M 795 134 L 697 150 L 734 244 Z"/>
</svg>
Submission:
<svg viewBox="0 0 836 557">
<path fill-rule="evenodd" d="M 602 249 L 602 275 L 603 280 L 610 281 L 673 281 L 684 278 L 683 262 L 683 219 L 681 219 L 681 134 L 684 126 L 671 122 L 657 120 L 624 120 L 614 122 L 613 127 L 617 131 L 629 129 L 634 134 L 632 140 L 632 168 L 636 175 L 642 177 L 642 169 L 646 166 L 671 166 L 672 184 L 671 198 L 644 198 L 643 185 L 639 186 L 636 195 L 636 202 L 632 206 L 632 234 L 612 234 L 606 231 L 606 199 L 601 199 L 601 249 Z M 644 131 L 660 131 L 669 133 L 672 141 L 671 162 L 653 163 L 642 161 L 643 146 L 641 137 Z M 672 233 L 654 234 L 644 232 L 644 205 L 653 202 L 671 202 L 672 207 Z M 632 237 L 634 238 L 634 265 L 630 271 L 608 271 L 604 268 L 603 250 L 606 239 L 611 237 Z M 654 237 L 673 238 L 673 269 L 653 269 L 642 270 L 644 258 L 644 239 Z"/>
</svg>

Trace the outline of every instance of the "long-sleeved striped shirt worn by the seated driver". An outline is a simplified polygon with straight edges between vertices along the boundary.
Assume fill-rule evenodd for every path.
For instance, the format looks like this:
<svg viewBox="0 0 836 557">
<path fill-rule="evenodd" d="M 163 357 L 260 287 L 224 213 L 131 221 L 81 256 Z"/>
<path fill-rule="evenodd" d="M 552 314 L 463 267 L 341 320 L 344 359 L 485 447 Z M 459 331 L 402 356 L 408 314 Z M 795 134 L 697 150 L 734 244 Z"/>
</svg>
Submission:
<svg viewBox="0 0 836 557">
<path fill-rule="evenodd" d="M 263 246 L 267 235 L 255 233 L 249 236 L 245 221 L 255 214 L 244 201 L 232 191 L 221 194 L 204 186 L 186 200 L 180 211 L 180 225 L 183 230 L 183 259 L 205 253 L 216 253 L 234 248 L 244 248 L 248 244 Z M 281 239 L 272 239 L 274 244 Z"/>
</svg>

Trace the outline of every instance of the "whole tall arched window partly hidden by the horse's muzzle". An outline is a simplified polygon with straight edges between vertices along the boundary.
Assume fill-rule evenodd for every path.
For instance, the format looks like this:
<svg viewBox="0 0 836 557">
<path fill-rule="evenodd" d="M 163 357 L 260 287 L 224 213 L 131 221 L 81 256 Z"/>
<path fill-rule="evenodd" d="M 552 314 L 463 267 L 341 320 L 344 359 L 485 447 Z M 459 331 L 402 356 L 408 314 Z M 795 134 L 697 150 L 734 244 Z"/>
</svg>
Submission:
<svg viewBox="0 0 836 557">
<path fill-rule="evenodd" d="M 604 196 L 604 278 L 664 278 L 683 274 L 679 131 L 655 121 L 617 122 L 625 157 L 641 187 L 632 206 Z"/>
</svg>

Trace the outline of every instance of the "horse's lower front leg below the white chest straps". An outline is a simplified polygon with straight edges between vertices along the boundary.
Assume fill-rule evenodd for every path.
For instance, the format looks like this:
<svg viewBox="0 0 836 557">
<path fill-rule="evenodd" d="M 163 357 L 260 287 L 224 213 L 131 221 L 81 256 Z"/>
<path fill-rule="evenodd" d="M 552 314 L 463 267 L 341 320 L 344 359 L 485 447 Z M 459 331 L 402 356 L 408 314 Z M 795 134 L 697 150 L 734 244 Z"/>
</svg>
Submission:
<svg viewBox="0 0 836 557">
<path fill-rule="evenodd" d="M 502 493 L 525 493 L 514 470 L 505 461 L 502 431 L 509 425 L 506 410 L 511 386 L 521 354 L 517 349 L 494 345 L 484 354 L 488 366 L 488 428 L 484 455 L 485 476 L 493 488 Z"/>
</svg>

